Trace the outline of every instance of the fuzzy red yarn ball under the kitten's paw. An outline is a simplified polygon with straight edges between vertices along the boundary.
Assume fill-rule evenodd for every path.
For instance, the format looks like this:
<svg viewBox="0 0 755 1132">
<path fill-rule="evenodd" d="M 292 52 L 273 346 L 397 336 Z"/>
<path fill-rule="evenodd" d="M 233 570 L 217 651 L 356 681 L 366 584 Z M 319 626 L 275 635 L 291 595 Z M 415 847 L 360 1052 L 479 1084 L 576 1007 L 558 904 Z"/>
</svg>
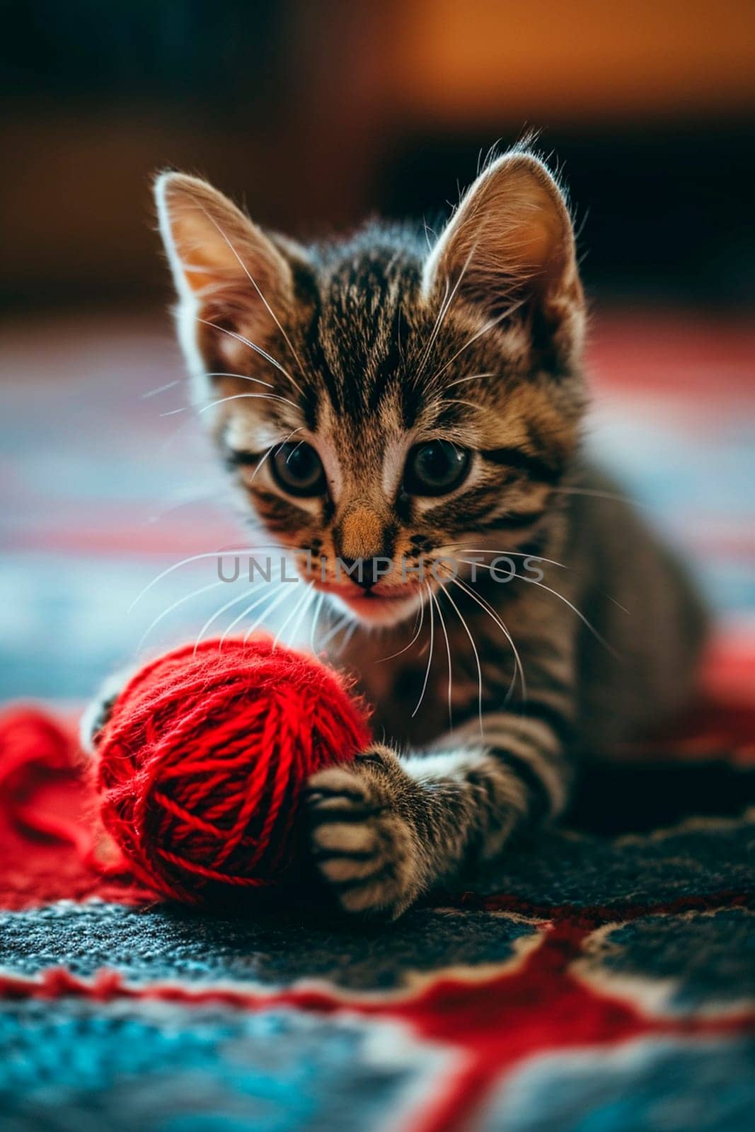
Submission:
<svg viewBox="0 0 755 1132">
<path fill-rule="evenodd" d="M 303 784 L 369 741 L 361 703 L 268 638 L 205 641 L 143 668 L 97 744 L 101 817 L 132 873 L 189 903 L 285 877 Z"/>
</svg>

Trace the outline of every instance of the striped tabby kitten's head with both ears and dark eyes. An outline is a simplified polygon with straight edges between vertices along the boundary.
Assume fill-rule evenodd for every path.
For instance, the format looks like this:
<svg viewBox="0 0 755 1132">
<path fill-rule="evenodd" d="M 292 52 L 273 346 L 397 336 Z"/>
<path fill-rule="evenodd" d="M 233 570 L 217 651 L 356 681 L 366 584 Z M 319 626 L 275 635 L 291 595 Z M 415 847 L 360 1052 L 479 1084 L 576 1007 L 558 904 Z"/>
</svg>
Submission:
<svg viewBox="0 0 755 1132">
<path fill-rule="evenodd" d="M 533 538 L 583 412 L 574 235 L 539 158 L 494 161 L 429 248 L 387 225 L 301 247 L 180 173 L 156 197 L 203 415 L 316 586 L 392 624 L 419 557 Z"/>
</svg>

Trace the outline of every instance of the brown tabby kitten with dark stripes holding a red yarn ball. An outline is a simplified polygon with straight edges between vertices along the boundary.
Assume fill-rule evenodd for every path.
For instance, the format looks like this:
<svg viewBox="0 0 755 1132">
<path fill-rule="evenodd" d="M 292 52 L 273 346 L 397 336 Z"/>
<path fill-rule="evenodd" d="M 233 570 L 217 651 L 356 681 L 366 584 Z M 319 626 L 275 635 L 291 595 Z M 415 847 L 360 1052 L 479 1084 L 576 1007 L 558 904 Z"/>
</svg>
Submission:
<svg viewBox="0 0 755 1132">
<path fill-rule="evenodd" d="M 180 173 L 156 199 L 203 417 L 268 542 L 354 620 L 338 662 L 385 735 L 311 780 L 314 858 L 344 909 L 397 916 L 560 814 L 580 753 L 676 711 L 700 652 L 683 574 L 580 453 L 564 195 L 516 148 L 429 250 L 384 224 L 303 247 Z"/>
</svg>

